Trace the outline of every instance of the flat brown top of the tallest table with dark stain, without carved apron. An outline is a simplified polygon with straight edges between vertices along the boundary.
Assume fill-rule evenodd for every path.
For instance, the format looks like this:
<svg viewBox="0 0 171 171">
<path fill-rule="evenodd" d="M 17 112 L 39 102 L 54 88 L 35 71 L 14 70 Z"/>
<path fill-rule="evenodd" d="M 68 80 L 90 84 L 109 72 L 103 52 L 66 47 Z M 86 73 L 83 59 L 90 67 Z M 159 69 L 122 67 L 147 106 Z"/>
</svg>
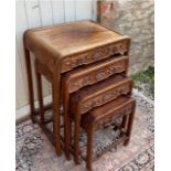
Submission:
<svg viewBox="0 0 171 171">
<path fill-rule="evenodd" d="M 63 57 L 128 39 L 128 36 L 94 21 L 75 21 L 28 30 L 24 39 L 31 51 L 46 46 L 49 51 Z"/>
</svg>

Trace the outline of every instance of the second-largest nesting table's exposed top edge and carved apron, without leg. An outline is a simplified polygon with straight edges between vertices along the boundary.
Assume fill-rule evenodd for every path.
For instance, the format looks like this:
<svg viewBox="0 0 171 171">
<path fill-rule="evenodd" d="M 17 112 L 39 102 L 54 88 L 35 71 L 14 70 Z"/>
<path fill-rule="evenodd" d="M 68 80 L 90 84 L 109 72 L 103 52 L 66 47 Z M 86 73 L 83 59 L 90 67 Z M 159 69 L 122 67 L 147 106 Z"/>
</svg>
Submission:
<svg viewBox="0 0 171 171">
<path fill-rule="evenodd" d="M 128 56 L 113 55 L 105 61 L 78 67 L 63 74 L 62 82 L 67 85 L 68 93 L 74 93 L 82 87 L 98 83 L 114 74 L 126 73 L 127 68 Z"/>
</svg>

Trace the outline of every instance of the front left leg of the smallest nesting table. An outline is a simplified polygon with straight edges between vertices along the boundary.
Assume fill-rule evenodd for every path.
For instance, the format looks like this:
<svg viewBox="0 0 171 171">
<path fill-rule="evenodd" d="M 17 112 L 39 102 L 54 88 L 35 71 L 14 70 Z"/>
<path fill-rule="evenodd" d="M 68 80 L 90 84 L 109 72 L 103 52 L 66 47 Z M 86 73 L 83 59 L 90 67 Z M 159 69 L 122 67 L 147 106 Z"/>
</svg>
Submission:
<svg viewBox="0 0 171 171">
<path fill-rule="evenodd" d="M 86 168 L 92 170 L 92 158 L 93 158 L 93 128 L 89 128 L 87 131 L 87 158 L 86 158 Z"/>
</svg>

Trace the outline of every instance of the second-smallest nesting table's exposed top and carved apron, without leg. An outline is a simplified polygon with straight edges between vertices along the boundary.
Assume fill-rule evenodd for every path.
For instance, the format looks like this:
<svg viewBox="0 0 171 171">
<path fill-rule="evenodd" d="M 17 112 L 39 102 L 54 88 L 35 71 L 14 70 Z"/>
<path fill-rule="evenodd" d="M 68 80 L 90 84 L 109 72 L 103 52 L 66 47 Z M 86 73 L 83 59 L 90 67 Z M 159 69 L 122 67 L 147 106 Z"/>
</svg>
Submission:
<svg viewBox="0 0 171 171">
<path fill-rule="evenodd" d="M 114 75 L 100 83 L 87 86 L 71 95 L 71 113 L 85 114 L 96 106 L 106 104 L 120 95 L 131 93 L 132 79 L 124 75 Z"/>
</svg>

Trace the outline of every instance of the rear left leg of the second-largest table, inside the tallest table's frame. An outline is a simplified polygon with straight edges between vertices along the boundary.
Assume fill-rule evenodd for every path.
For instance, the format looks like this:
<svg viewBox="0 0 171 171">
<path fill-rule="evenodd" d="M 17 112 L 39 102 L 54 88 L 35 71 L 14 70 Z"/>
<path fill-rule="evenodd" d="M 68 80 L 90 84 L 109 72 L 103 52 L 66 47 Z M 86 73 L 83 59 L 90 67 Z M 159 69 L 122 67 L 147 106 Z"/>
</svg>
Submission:
<svg viewBox="0 0 171 171">
<path fill-rule="evenodd" d="M 42 77 L 38 71 L 38 64 L 35 63 L 35 75 L 36 75 L 36 85 L 38 85 L 38 98 L 40 107 L 41 124 L 44 124 L 44 106 L 43 106 L 43 92 L 42 92 Z"/>
</svg>

